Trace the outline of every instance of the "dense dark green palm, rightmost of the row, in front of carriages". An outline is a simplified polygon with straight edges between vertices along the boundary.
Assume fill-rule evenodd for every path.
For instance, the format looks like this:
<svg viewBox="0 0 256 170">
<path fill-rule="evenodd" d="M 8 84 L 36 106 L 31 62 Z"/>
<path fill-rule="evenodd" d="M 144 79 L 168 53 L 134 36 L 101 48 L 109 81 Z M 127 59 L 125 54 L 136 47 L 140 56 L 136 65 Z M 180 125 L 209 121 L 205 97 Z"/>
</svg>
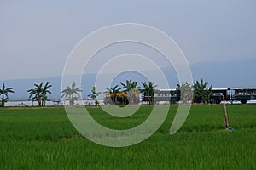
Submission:
<svg viewBox="0 0 256 170">
<path fill-rule="evenodd" d="M 201 82 L 196 81 L 194 84 L 194 94 L 196 103 L 209 103 L 212 95 L 212 85 L 207 88 L 207 82 L 201 79 Z"/>
</svg>

